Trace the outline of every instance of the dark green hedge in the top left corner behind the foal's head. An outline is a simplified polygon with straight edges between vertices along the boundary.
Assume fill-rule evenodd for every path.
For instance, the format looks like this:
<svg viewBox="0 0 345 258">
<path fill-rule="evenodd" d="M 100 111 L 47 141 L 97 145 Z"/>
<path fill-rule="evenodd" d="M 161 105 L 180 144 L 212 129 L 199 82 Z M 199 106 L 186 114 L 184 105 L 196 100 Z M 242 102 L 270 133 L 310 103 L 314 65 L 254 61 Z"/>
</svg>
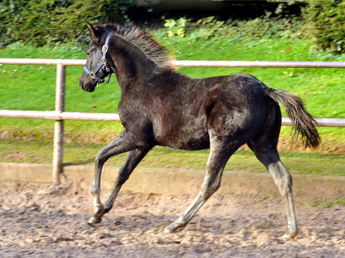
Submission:
<svg viewBox="0 0 345 258">
<path fill-rule="evenodd" d="M 53 45 L 84 38 L 86 21 L 129 21 L 134 0 L 3 0 L 0 2 L 0 47 L 12 42 Z"/>
</svg>

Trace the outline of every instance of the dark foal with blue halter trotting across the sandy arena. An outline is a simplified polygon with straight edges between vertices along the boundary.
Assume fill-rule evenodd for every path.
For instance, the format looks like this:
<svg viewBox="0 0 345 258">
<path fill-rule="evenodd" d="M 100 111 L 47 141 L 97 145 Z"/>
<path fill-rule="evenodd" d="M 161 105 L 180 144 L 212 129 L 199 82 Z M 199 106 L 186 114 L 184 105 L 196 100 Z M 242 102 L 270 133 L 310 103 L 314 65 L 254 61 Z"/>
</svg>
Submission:
<svg viewBox="0 0 345 258">
<path fill-rule="evenodd" d="M 125 127 L 97 154 L 92 185 L 95 213 L 89 223 L 101 222 L 122 184 L 155 145 L 185 150 L 210 148 L 199 195 L 166 228 L 166 232 L 175 232 L 219 188 L 226 162 L 240 146 L 247 144 L 266 166 L 285 199 L 288 221 L 285 236 L 297 235 L 292 178 L 277 151 L 281 127 L 278 102 L 291 118 L 295 132 L 302 135 L 306 147 L 317 147 L 320 142 L 315 121 L 299 97 L 271 89 L 247 74 L 192 79 L 174 69 L 164 55 L 164 47 L 144 30 L 131 25 L 93 27 L 88 24 L 88 28 L 92 40 L 86 50 L 86 68 L 79 84 L 83 90 L 92 92 L 106 76 L 115 73 L 121 88 L 118 112 Z M 108 199 L 102 204 L 102 167 L 110 157 L 123 152 L 128 152 L 128 156 Z"/>
</svg>

